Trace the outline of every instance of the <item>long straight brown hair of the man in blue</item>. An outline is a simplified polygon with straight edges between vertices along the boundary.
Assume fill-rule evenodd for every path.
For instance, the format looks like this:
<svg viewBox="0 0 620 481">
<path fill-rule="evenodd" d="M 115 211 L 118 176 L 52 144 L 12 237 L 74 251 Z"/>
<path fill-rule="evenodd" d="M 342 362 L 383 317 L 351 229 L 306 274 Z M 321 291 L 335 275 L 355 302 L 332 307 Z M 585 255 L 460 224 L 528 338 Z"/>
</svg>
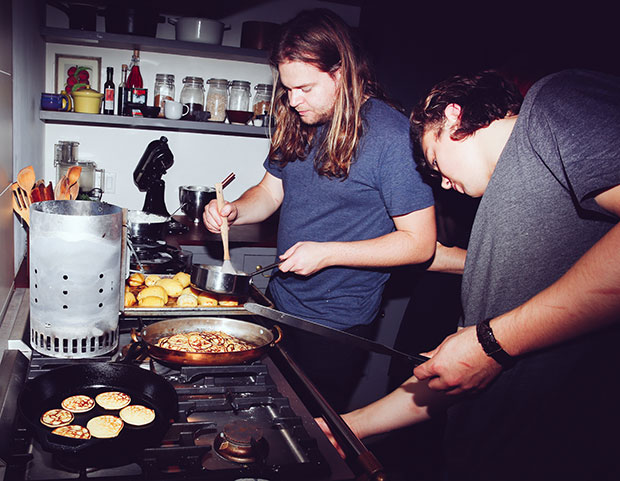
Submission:
<svg viewBox="0 0 620 481">
<path fill-rule="evenodd" d="M 276 71 L 278 65 L 291 61 L 311 64 L 329 74 L 340 69 L 334 114 L 321 137 L 315 167 L 320 175 L 346 178 L 363 132 L 362 105 L 369 97 L 385 99 L 350 28 L 331 10 L 305 10 L 281 26 L 269 61 Z M 274 115 L 270 160 L 285 165 L 305 159 L 317 127 L 301 122 L 280 81 L 274 96 Z"/>
</svg>

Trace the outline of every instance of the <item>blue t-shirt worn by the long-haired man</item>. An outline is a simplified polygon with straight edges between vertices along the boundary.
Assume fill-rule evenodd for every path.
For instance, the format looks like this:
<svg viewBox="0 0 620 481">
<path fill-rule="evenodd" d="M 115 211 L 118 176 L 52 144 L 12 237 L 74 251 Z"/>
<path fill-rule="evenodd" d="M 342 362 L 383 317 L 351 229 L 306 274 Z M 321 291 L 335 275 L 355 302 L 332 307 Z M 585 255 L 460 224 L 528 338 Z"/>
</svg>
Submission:
<svg viewBox="0 0 620 481">
<path fill-rule="evenodd" d="M 346 179 L 319 175 L 316 149 L 286 166 L 265 161 L 282 180 L 278 255 L 300 241 L 358 241 L 395 230 L 391 217 L 433 205 L 416 170 L 407 118 L 376 99 L 363 109 L 364 134 Z M 386 269 L 329 267 L 311 276 L 278 272 L 269 288 L 276 307 L 337 329 L 377 315 Z"/>
</svg>

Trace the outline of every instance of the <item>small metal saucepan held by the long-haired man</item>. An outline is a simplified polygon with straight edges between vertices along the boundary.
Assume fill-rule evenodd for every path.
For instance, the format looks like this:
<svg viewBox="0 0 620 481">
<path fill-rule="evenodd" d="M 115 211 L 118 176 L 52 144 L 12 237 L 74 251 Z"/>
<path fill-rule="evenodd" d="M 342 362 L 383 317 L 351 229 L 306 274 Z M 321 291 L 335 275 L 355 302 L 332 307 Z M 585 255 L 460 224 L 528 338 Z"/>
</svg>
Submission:
<svg viewBox="0 0 620 481">
<path fill-rule="evenodd" d="M 192 266 L 191 283 L 201 291 L 227 294 L 236 297 L 247 297 L 250 292 L 250 279 L 261 272 L 268 271 L 280 265 L 279 262 L 269 264 L 246 274 L 237 271 L 234 274 L 222 270 L 222 266 L 194 264 Z"/>
</svg>

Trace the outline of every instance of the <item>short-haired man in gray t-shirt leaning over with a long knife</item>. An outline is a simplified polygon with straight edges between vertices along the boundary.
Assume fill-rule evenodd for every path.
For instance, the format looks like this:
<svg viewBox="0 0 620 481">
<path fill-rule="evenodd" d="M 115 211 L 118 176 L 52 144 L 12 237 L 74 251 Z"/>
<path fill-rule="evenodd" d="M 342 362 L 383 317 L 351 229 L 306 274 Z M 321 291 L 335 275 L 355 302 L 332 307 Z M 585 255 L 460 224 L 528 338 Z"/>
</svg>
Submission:
<svg viewBox="0 0 620 481">
<path fill-rule="evenodd" d="M 463 328 L 344 418 L 365 437 L 449 405 L 446 480 L 620 479 L 620 78 L 562 71 L 521 101 L 456 76 L 411 124 L 421 165 L 481 197 Z"/>
</svg>

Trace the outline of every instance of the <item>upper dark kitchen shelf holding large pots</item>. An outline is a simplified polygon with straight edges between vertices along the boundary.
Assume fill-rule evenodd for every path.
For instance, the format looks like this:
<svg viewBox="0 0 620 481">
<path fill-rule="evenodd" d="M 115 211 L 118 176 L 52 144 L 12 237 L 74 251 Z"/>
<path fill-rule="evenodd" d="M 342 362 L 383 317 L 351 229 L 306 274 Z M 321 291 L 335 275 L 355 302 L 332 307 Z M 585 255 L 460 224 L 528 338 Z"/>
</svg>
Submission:
<svg viewBox="0 0 620 481">
<path fill-rule="evenodd" d="M 197 42 L 182 42 L 162 38 L 121 35 L 107 32 L 70 30 L 66 28 L 44 27 L 41 35 L 46 42 L 65 45 L 85 45 L 89 47 L 138 49 L 142 52 L 169 53 L 191 57 L 237 60 L 251 63 L 268 63 L 268 52 L 251 48 L 226 47 Z"/>
</svg>

